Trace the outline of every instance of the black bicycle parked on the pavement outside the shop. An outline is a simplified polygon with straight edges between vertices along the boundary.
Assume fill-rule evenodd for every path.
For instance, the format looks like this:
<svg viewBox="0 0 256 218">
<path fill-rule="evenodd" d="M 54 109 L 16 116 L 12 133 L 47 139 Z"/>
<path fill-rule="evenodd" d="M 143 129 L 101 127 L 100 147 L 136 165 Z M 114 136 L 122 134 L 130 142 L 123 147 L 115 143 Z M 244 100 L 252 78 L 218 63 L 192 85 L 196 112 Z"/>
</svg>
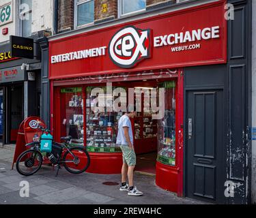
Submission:
<svg viewBox="0 0 256 218">
<path fill-rule="evenodd" d="M 45 129 L 40 125 L 38 125 L 38 129 L 42 130 L 42 134 L 44 132 L 51 132 L 50 130 Z M 61 168 L 61 164 L 63 164 L 64 168 L 66 168 L 66 170 L 72 174 L 80 174 L 85 172 L 85 170 L 87 170 L 89 167 L 90 157 L 86 148 L 79 146 L 70 148 L 71 139 L 71 136 L 66 136 L 61 137 L 61 140 L 63 140 L 64 143 L 53 141 L 53 149 L 59 150 L 57 155 L 58 157 L 55 157 L 56 161 L 52 163 L 53 166 L 58 167 L 56 176 L 58 175 L 59 169 Z M 29 149 L 18 156 L 16 161 L 16 170 L 23 176 L 30 176 L 35 174 L 35 172 L 38 172 L 43 163 L 43 156 L 40 151 L 40 139 L 33 138 L 33 142 L 30 142 L 25 146 L 29 146 Z M 46 155 L 52 154 L 53 151 L 52 153 L 46 153 Z"/>
</svg>

